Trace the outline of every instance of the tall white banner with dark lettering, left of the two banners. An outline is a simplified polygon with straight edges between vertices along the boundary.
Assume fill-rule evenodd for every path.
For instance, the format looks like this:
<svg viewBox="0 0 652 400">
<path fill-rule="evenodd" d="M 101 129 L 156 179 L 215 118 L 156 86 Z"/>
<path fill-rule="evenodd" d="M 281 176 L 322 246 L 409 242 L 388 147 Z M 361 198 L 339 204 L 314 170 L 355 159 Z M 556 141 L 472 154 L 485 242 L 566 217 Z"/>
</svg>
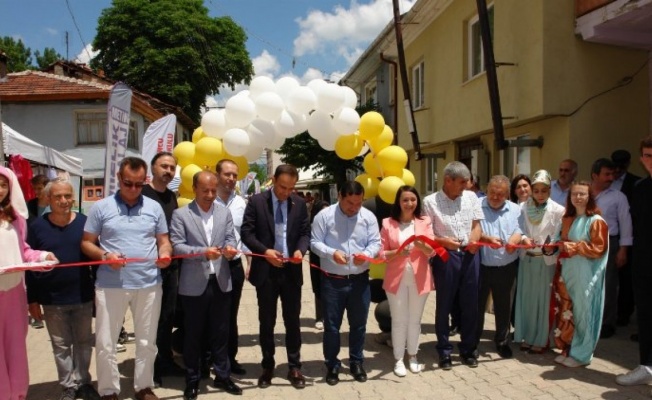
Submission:
<svg viewBox="0 0 652 400">
<path fill-rule="evenodd" d="M 127 152 L 131 89 L 122 82 L 113 85 L 107 108 L 106 163 L 104 164 L 104 197 L 118 190 L 118 167 Z"/>
</svg>

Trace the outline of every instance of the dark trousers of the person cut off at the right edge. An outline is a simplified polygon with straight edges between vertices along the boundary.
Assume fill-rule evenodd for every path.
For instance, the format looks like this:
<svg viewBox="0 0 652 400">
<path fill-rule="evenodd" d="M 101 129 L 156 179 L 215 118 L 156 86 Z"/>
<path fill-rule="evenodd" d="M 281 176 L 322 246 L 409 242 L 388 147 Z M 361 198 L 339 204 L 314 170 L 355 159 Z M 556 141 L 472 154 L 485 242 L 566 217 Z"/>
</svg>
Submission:
<svg viewBox="0 0 652 400">
<path fill-rule="evenodd" d="M 649 261 L 648 261 L 649 263 Z M 649 265 L 642 267 L 647 268 Z M 634 301 L 638 320 L 638 352 L 641 365 L 652 367 L 652 275 L 633 271 Z"/>
</svg>

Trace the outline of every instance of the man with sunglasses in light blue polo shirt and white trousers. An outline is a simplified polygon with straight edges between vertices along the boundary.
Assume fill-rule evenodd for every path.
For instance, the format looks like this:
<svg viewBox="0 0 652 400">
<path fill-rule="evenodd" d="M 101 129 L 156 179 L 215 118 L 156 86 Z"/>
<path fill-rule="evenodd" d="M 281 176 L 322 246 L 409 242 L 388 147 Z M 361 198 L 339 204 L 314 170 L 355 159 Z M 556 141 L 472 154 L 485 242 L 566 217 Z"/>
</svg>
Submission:
<svg viewBox="0 0 652 400">
<path fill-rule="evenodd" d="M 158 400 L 151 390 L 156 358 L 156 328 L 161 311 L 161 273 L 170 265 L 172 246 L 161 206 L 143 196 L 147 164 L 126 157 L 118 171 L 117 193 L 91 208 L 82 251 L 104 260 L 95 283 L 95 350 L 98 392 L 117 400 L 120 372 L 116 344 L 127 307 L 136 334 L 134 391 L 136 400 Z M 129 259 L 137 259 L 126 261 Z"/>
</svg>

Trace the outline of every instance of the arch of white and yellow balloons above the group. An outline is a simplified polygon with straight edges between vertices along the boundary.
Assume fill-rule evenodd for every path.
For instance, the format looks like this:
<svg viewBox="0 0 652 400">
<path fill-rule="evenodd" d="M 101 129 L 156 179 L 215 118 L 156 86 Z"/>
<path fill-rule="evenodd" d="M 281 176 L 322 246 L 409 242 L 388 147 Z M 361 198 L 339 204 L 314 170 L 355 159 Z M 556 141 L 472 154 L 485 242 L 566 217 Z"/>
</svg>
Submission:
<svg viewBox="0 0 652 400">
<path fill-rule="evenodd" d="M 204 114 L 192 142 L 181 142 L 174 148 L 182 168 L 179 203 L 187 204 L 194 197 L 192 177 L 198 171 L 214 171 L 219 160 L 229 158 L 238 164 L 238 179 L 243 179 L 249 171 L 248 162 L 257 160 L 263 149 L 277 150 L 285 139 L 306 130 L 323 149 L 335 151 L 342 159 L 371 150 L 367 157 L 375 169 L 365 167 L 367 173 L 363 175 L 371 183 L 363 185 L 369 197 L 381 193 L 381 188 L 383 192 L 389 190 L 387 178 L 404 177 L 407 154 L 398 146 L 390 146 L 393 132 L 382 116 L 366 113 L 360 117 L 355 110 L 357 103 L 353 89 L 322 79 L 302 86 L 292 77 L 276 82 L 265 76 L 254 78 L 249 90 L 231 97 L 224 109 Z"/>
</svg>

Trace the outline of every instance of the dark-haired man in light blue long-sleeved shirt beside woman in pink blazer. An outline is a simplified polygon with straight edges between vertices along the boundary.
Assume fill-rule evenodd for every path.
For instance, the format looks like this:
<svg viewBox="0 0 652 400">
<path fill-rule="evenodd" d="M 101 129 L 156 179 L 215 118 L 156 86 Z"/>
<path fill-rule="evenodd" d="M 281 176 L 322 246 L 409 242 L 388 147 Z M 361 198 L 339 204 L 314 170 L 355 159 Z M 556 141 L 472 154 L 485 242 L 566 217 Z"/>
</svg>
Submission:
<svg viewBox="0 0 652 400">
<path fill-rule="evenodd" d="M 376 216 L 362 208 L 364 188 L 358 182 L 344 183 L 338 202 L 322 210 L 312 224 L 310 249 L 320 257 L 325 274 L 321 279 L 324 315 L 326 383 L 339 382 L 341 362 L 340 327 L 346 310 L 349 320 L 349 362 L 358 382 L 367 380 L 362 367 L 363 346 L 369 314 L 369 262 L 380 251 Z"/>
</svg>

